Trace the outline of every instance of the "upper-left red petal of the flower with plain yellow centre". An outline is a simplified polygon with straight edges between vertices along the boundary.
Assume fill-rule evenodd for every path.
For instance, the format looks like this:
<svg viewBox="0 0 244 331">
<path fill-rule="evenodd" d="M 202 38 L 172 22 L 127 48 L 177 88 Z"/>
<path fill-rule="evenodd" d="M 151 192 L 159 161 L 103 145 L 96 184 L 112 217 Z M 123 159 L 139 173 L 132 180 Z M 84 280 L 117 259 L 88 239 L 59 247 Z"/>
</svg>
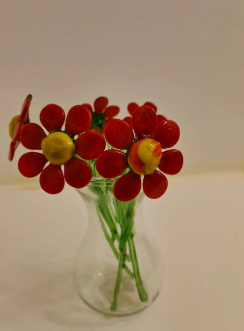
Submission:
<svg viewBox="0 0 244 331">
<path fill-rule="evenodd" d="M 21 144 L 28 149 L 41 149 L 42 141 L 46 134 L 40 125 L 28 123 L 23 126 L 20 132 Z"/>
</svg>

